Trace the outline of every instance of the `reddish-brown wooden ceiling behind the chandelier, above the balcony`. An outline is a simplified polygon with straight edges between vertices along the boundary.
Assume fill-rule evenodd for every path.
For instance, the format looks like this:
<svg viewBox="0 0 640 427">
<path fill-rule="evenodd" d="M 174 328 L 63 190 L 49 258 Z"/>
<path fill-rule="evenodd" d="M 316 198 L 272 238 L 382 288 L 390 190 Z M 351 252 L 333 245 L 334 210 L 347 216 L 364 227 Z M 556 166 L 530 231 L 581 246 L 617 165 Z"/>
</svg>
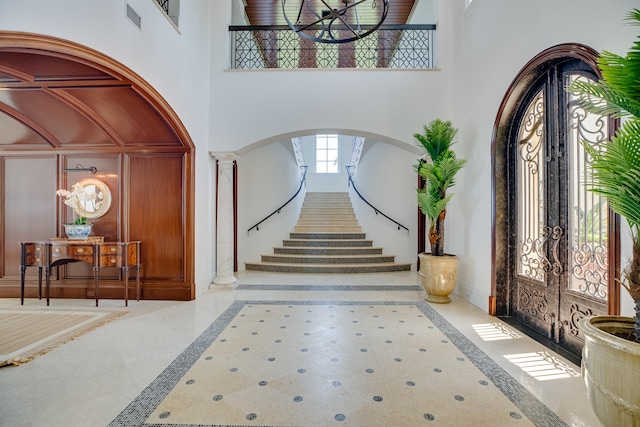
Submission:
<svg viewBox="0 0 640 427">
<path fill-rule="evenodd" d="M 367 0 L 346 0 L 347 4 L 356 2 L 358 16 L 361 23 L 372 24 L 377 22 L 379 14 L 382 12 L 382 0 L 377 0 L 375 9 L 372 8 L 376 1 Z M 345 0 L 309 0 L 309 5 L 316 11 L 327 10 L 329 5 L 333 9 L 343 9 Z M 250 25 L 287 25 L 282 12 L 283 0 L 245 0 L 245 13 Z M 291 21 L 295 21 L 300 9 L 301 0 L 284 0 L 287 16 Z M 389 0 L 389 13 L 384 24 L 401 25 L 406 24 L 411 16 L 415 0 Z M 353 9 L 351 9 L 353 10 Z M 304 11 L 304 9 L 303 9 Z M 351 16 L 353 17 L 353 13 Z M 306 21 L 308 22 L 308 21 Z"/>
</svg>

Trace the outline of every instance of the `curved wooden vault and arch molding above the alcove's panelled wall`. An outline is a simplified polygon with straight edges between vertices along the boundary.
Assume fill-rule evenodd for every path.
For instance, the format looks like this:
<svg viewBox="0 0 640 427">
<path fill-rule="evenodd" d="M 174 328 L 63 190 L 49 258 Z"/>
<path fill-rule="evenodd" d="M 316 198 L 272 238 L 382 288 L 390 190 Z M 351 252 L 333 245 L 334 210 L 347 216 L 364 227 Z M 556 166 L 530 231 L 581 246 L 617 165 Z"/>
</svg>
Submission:
<svg viewBox="0 0 640 427">
<path fill-rule="evenodd" d="M 0 89 L 2 149 L 193 148 L 153 87 L 77 43 L 0 31 Z"/>
</svg>

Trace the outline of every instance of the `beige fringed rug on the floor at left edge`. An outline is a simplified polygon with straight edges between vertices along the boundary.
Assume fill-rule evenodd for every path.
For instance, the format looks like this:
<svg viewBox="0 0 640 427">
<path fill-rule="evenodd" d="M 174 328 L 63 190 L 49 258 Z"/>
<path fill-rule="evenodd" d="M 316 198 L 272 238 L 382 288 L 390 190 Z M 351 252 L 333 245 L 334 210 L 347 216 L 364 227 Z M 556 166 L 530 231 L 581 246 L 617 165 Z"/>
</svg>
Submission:
<svg viewBox="0 0 640 427">
<path fill-rule="evenodd" d="M 27 363 L 126 311 L 0 309 L 0 366 Z"/>
</svg>

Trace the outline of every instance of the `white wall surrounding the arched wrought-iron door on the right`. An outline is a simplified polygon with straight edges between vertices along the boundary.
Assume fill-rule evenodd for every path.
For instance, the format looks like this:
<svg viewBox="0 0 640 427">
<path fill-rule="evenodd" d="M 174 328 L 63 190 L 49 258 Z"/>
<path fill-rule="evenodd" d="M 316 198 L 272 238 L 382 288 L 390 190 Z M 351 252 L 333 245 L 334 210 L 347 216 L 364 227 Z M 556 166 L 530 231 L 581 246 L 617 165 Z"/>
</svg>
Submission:
<svg viewBox="0 0 640 427">
<path fill-rule="evenodd" d="M 491 136 L 500 102 L 520 69 L 554 45 L 578 42 L 625 53 L 637 27 L 623 24 L 623 19 L 638 2 L 474 0 L 468 16 L 464 3 L 440 2 L 441 9 L 450 7 L 441 10 L 451 18 L 443 22 L 454 27 L 452 119 L 460 128 L 457 148 L 469 159 L 448 210 L 447 230 L 452 250 L 461 256 L 457 292 L 486 310 L 491 292 Z M 629 254 L 625 244 L 623 263 Z M 622 308 L 631 305 L 623 302 Z"/>
</svg>

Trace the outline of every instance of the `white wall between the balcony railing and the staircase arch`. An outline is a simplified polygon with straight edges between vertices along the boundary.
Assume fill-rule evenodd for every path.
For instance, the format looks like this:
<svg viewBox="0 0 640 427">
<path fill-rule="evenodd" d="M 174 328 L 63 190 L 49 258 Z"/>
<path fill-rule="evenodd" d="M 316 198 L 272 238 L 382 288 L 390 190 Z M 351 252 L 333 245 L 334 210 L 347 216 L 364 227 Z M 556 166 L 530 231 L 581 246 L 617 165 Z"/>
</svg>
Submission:
<svg viewBox="0 0 640 427">
<path fill-rule="evenodd" d="M 411 144 L 414 129 L 449 108 L 448 76 L 438 71 L 228 70 L 230 18 L 221 17 L 230 17 L 231 3 L 211 4 L 212 151 L 234 151 L 272 136 L 331 129 Z M 446 37 L 446 32 L 438 36 Z M 441 56 L 441 65 L 443 61 L 447 65 L 446 56 Z"/>
</svg>

